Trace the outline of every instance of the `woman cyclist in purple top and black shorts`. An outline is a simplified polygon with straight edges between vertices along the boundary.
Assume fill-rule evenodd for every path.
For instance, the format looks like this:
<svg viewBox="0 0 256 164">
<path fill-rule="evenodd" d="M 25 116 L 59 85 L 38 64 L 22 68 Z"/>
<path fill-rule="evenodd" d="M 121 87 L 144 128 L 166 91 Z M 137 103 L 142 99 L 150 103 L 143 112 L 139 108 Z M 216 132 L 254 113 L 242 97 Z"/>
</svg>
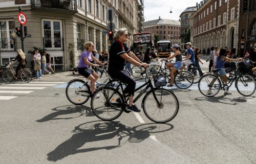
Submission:
<svg viewBox="0 0 256 164">
<path fill-rule="evenodd" d="M 93 42 L 89 41 L 83 44 L 86 51 L 84 51 L 81 55 L 80 61 L 78 63 L 78 73 L 91 81 L 91 91 L 92 93 L 95 90 L 95 82 L 99 78 L 98 74 L 90 69 L 90 66 L 99 67 L 98 64 L 93 64 L 90 61 L 95 61 L 100 65 L 104 65 L 104 63 L 100 62 L 92 55 L 92 51 L 94 49 Z"/>
</svg>

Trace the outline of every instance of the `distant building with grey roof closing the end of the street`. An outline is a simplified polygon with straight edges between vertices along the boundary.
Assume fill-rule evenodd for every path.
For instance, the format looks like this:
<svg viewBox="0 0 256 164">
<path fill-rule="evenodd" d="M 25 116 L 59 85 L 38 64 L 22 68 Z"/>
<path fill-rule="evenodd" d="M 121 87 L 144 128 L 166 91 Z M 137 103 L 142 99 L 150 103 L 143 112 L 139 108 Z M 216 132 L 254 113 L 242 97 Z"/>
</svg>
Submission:
<svg viewBox="0 0 256 164">
<path fill-rule="evenodd" d="M 180 21 L 170 19 L 150 20 L 144 22 L 144 32 L 150 32 L 152 37 L 159 36 L 159 40 L 169 40 L 171 44 L 180 44 Z"/>
</svg>

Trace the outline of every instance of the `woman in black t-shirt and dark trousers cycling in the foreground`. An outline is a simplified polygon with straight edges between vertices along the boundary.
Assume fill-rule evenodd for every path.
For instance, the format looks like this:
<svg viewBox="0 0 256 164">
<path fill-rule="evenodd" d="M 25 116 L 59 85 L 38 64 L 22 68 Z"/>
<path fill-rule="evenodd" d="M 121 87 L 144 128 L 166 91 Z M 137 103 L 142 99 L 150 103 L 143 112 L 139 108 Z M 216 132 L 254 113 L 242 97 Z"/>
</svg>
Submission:
<svg viewBox="0 0 256 164">
<path fill-rule="evenodd" d="M 112 79 L 117 79 L 122 83 L 127 84 L 124 89 L 125 93 L 128 93 L 129 96 L 129 106 L 127 107 L 127 111 L 136 111 L 140 112 L 140 109 L 133 105 L 133 97 L 136 82 L 130 76 L 123 72 L 123 67 L 125 65 L 125 60 L 130 62 L 131 64 L 147 67 L 146 63 L 142 63 L 135 55 L 130 51 L 124 42 L 129 39 L 129 34 L 126 28 L 119 29 L 114 37 L 114 42 L 110 47 L 110 56 L 109 56 L 109 68 L 108 73 Z M 116 100 L 118 101 L 118 100 Z"/>
</svg>

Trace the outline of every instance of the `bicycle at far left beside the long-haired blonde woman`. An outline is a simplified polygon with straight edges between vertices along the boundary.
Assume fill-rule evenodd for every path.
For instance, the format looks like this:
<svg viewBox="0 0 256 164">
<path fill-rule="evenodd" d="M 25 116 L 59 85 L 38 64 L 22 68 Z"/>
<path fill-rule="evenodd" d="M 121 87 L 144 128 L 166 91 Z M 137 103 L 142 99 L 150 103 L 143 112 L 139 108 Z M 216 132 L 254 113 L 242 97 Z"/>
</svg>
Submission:
<svg viewBox="0 0 256 164">
<path fill-rule="evenodd" d="M 13 69 L 13 64 L 15 62 L 16 61 L 10 61 L 5 63 L 6 70 L 3 72 L 2 77 L 6 82 L 12 82 L 16 77 L 16 73 Z M 20 68 L 17 77 L 22 79 L 24 82 L 30 82 L 32 79 L 32 73 L 29 71 L 29 69 Z"/>
</svg>

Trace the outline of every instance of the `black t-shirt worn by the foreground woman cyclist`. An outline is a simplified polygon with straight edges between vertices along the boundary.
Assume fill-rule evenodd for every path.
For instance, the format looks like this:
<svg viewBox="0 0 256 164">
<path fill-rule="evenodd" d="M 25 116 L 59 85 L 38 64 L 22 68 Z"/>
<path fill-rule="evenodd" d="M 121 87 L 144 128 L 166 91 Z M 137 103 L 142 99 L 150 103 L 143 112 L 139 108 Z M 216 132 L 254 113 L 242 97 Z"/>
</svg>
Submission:
<svg viewBox="0 0 256 164">
<path fill-rule="evenodd" d="M 115 69 L 123 70 L 125 60 L 120 55 L 130 52 L 127 45 L 123 43 L 122 47 L 121 42 L 119 43 L 118 41 L 114 41 L 110 46 L 109 52 L 109 66 Z"/>
</svg>

